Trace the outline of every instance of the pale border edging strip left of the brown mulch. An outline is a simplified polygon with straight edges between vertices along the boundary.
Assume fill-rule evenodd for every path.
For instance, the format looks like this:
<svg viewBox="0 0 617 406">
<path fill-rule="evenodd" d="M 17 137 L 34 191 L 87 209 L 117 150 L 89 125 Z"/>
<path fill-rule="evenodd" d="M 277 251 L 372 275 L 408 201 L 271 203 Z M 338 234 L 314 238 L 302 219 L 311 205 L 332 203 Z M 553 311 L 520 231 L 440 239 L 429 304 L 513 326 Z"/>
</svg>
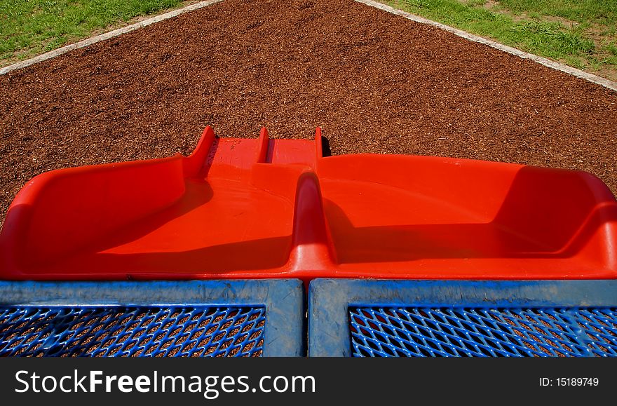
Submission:
<svg viewBox="0 0 617 406">
<path fill-rule="evenodd" d="M 114 31 L 110 31 L 110 32 L 106 32 L 104 34 L 93 36 L 92 38 L 84 39 L 83 41 L 72 43 L 70 45 L 63 46 L 62 48 L 57 48 L 55 50 L 50 50 L 47 53 L 43 53 L 43 54 L 41 54 L 39 56 L 35 56 L 35 57 L 30 58 L 28 60 L 24 60 L 22 62 L 17 62 L 17 63 L 15 63 L 13 65 L 8 65 L 7 67 L 0 68 L 0 75 L 7 74 L 8 72 L 14 71 L 15 69 L 21 69 L 23 67 L 34 65 L 37 62 L 43 62 L 44 60 L 48 60 L 48 59 L 51 59 L 53 57 L 60 56 L 63 53 L 69 52 L 69 50 L 84 48 L 86 46 L 92 45 L 93 43 L 97 43 L 97 42 L 100 42 L 100 41 L 104 41 L 106 39 L 114 38 L 114 36 L 118 36 L 118 35 L 121 35 L 121 34 L 126 34 L 127 32 L 135 31 L 135 29 L 139 29 L 139 28 L 142 28 L 142 27 L 147 27 L 148 25 L 154 24 L 155 22 L 159 22 L 159 21 L 163 21 L 163 20 L 168 20 L 169 18 L 174 18 L 177 15 L 180 15 L 182 13 L 187 13 L 187 11 L 194 11 L 194 10 L 197 10 L 198 8 L 203 8 L 205 6 L 210 6 L 211 4 L 218 3 L 219 1 L 222 1 L 222 0 L 200 1 L 199 3 L 191 4 L 191 5 L 183 7 L 183 8 L 178 8 L 177 10 L 170 11 L 169 13 L 165 13 L 165 14 L 161 14 L 161 15 L 156 15 L 156 17 L 149 18 L 147 20 L 140 21 L 140 22 L 137 22 L 137 23 L 132 24 L 132 25 L 127 25 L 126 27 L 114 29 Z"/>
</svg>

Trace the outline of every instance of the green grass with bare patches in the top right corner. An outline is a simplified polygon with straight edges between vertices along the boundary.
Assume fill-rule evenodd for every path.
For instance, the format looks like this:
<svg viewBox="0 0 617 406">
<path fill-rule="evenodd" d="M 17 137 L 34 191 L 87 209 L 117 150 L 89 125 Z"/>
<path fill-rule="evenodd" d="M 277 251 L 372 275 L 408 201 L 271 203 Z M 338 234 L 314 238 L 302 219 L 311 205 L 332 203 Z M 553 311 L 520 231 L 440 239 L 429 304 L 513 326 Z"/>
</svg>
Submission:
<svg viewBox="0 0 617 406">
<path fill-rule="evenodd" d="M 381 0 L 617 80 L 617 0 Z"/>
</svg>

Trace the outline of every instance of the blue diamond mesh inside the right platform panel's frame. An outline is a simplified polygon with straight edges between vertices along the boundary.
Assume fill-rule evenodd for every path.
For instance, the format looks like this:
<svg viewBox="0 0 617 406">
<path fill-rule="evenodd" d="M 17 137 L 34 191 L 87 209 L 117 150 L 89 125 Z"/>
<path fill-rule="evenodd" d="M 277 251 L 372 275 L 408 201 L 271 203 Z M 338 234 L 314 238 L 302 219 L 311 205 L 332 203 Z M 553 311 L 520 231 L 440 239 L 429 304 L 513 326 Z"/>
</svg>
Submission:
<svg viewBox="0 0 617 406">
<path fill-rule="evenodd" d="M 617 309 L 350 308 L 352 355 L 617 356 Z"/>
</svg>

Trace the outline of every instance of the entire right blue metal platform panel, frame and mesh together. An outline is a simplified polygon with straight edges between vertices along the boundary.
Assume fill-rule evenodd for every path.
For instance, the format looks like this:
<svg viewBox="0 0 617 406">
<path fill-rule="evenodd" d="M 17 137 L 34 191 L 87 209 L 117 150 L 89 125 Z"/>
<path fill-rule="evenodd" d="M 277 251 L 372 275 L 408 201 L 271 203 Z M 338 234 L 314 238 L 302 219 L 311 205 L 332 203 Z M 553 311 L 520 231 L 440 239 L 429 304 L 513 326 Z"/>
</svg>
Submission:
<svg viewBox="0 0 617 406">
<path fill-rule="evenodd" d="M 617 280 L 311 282 L 309 356 L 617 356 Z"/>
</svg>

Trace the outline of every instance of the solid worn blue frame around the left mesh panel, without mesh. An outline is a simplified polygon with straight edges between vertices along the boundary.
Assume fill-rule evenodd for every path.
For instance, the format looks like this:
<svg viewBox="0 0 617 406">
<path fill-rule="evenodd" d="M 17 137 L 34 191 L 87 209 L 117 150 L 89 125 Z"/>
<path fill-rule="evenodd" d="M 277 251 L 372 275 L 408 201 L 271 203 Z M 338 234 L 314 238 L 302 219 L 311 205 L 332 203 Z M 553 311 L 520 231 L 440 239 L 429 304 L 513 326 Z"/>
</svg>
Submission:
<svg viewBox="0 0 617 406">
<path fill-rule="evenodd" d="M 263 307 L 263 356 L 305 353 L 301 280 L 0 281 L 0 306 Z"/>
</svg>

